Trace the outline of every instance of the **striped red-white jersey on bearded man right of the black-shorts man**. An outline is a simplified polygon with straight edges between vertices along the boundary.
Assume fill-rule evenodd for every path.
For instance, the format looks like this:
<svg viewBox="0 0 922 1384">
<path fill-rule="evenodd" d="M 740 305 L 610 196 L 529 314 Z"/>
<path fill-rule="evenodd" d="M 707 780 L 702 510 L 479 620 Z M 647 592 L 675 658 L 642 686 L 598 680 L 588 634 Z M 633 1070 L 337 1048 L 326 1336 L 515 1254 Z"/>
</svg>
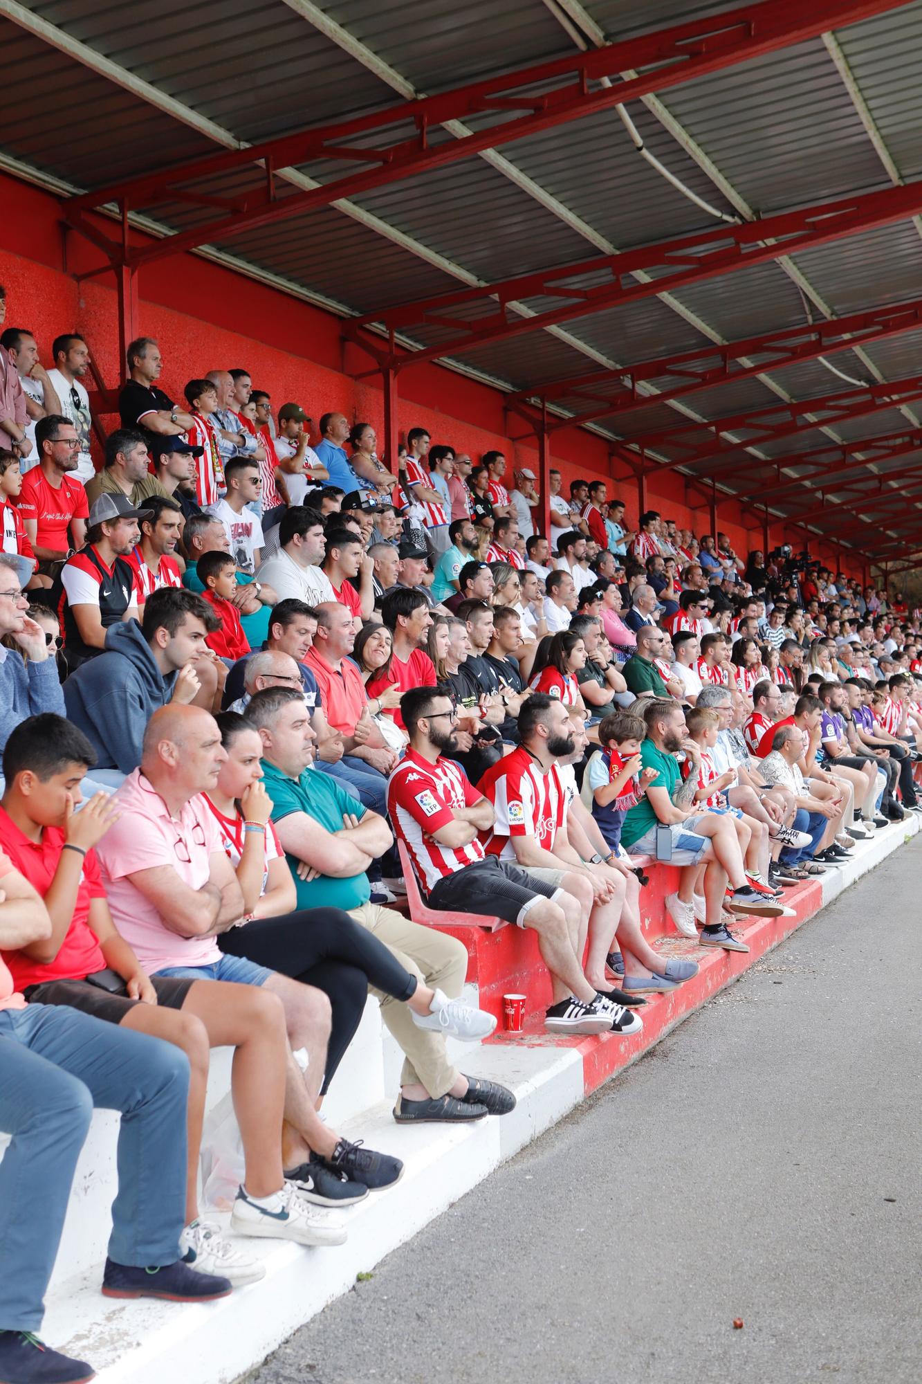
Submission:
<svg viewBox="0 0 922 1384">
<path fill-rule="evenodd" d="M 566 793 L 555 764 L 543 774 L 519 746 L 489 768 L 478 787 L 496 808 L 496 822 L 482 836 L 487 855 L 515 861 L 514 836 L 532 836 L 543 850 L 554 850 L 566 814 Z"/>
</svg>

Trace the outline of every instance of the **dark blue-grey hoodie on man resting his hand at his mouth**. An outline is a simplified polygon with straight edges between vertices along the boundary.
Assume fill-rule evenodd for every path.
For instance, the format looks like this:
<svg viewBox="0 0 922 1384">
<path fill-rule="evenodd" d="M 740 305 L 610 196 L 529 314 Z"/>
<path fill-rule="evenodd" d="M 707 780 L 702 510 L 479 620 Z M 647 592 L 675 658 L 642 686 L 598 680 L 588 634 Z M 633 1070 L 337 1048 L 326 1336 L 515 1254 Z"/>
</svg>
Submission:
<svg viewBox="0 0 922 1384">
<path fill-rule="evenodd" d="M 68 720 L 89 738 L 97 768 L 130 774 L 138 767 L 147 722 L 169 702 L 176 677 L 163 677 L 137 620 L 109 626 L 105 650 L 64 684 Z"/>
</svg>

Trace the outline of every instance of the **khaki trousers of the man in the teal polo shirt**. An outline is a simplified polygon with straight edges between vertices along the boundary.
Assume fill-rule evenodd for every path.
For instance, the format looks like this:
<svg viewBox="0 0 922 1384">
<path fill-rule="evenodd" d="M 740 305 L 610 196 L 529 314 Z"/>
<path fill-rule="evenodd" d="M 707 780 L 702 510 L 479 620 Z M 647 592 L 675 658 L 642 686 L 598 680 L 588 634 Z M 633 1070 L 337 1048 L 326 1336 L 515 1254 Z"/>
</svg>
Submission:
<svg viewBox="0 0 922 1384">
<path fill-rule="evenodd" d="M 461 994 L 468 973 L 468 952 L 457 937 L 449 937 L 435 927 L 422 927 L 393 908 L 382 908 L 381 904 L 350 908 L 349 916 L 374 933 L 400 965 L 424 984 L 432 990 L 443 990 L 449 999 L 457 999 Z M 433 1100 L 444 1096 L 460 1073 L 449 1062 L 442 1034 L 417 1027 L 410 1008 L 401 1001 L 392 999 L 374 985 L 370 987 L 370 992 L 381 1002 L 381 1017 L 406 1056 L 400 1085 L 419 1082 Z"/>
</svg>

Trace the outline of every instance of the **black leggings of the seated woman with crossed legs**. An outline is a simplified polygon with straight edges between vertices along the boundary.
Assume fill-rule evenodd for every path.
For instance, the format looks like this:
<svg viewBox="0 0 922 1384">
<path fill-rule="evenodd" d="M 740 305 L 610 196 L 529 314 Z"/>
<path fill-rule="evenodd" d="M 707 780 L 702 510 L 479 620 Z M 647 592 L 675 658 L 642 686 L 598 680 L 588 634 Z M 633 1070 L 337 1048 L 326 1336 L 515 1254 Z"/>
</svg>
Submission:
<svg viewBox="0 0 922 1384">
<path fill-rule="evenodd" d="M 217 945 L 230 956 L 248 956 L 327 995 L 332 1027 L 324 1095 L 356 1035 L 368 984 L 395 999 L 410 999 L 418 984 L 383 943 L 341 908 L 306 908 L 281 918 L 259 918 L 222 933 Z"/>
</svg>

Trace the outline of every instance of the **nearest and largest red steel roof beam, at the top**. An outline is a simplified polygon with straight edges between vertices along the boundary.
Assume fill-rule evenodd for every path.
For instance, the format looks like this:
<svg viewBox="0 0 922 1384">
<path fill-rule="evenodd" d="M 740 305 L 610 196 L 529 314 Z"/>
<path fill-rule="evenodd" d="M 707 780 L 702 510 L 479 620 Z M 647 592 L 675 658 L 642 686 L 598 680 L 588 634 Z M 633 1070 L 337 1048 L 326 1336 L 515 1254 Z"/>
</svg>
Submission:
<svg viewBox="0 0 922 1384">
<path fill-rule="evenodd" d="M 624 43 L 588 48 L 503 76 L 455 87 L 440 95 L 400 101 L 370 115 L 267 140 L 246 149 L 231 149 L 192 159 L 174 169 L 130 179 L 83 194 L 78 208 L 116 201 L 136 210 L 169 199 L 177 183 L 210 179 L 219 173 L 263 161 L 278 170 L 311 159 L 357 159 L 371 167 L 335 177 L 311 191 L 275 198 L 271 176 L 244 208 L 198 228 L 169 237 L 132 255 L 133 264 L 194 249 L 242 230 L 295 216 L 338 198 L 354 197 L 375 187 L 444 167 L 483 149 L 612 109 L 652 91 L 666 91 L 684 82 L 720 72 L 779 48 L 901 8 L 910 0 L 761 0 L 725 14 L 692 19 Z M 620 73 L 640 72 L 631 79 Z M 644 71 L 645 69 L 645 71 Z M 608 79 L 611 84 L 598 83 Z M 461 138 L 432 144 L 429 131 L 450 120 L 494 115 L 497 123 Z M 511 119 L 507 116 L 512 115 Z M 374 145 L 375 137 L 383 138 Z M 66 206 L 66 203 L 65 203 Z"/>
</svg>

